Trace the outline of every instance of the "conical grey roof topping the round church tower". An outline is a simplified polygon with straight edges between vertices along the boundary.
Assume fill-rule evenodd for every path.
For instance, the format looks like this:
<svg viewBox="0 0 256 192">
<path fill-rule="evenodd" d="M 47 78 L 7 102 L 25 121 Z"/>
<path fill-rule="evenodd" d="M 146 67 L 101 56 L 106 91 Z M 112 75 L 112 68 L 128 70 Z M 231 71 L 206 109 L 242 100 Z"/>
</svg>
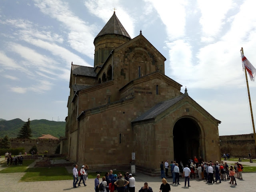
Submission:
<svg viewBox="0 0 256 192">
<path fill-rule="evenodd" d="M 110 20 L 108 20 L 107 24 L 102 28 L 100 33 L 96 36 L 96 38 L 98 36 L 102 36 L 105 34 L 119 34 L 119 35 L 123 35 L 123 36 L 126 36 L 131 39 L 130 35 L 128 34 L 128 32 L 125 30 L 124 26 L 121 24 L 121 22 L 117 18 L 115 12 L 112 15 L 112 17 L 110 18 Z"/>
</svg>

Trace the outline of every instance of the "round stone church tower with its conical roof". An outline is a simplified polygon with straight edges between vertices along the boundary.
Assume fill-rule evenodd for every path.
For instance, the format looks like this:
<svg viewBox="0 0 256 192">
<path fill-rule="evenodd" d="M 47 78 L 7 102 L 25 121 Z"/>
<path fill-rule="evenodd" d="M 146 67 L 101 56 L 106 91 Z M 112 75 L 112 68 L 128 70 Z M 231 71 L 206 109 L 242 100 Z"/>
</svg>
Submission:
<svg viewBox="0 0 256 192">
<path fill-rule="evenodd" d="M 131 40 L 130 35 L 114 12 L 110 20 L 108 20 L 107 24 L 94 39 L 94 67 L 104 64 L 112 50 L 129 40 Z"/>
</svg>

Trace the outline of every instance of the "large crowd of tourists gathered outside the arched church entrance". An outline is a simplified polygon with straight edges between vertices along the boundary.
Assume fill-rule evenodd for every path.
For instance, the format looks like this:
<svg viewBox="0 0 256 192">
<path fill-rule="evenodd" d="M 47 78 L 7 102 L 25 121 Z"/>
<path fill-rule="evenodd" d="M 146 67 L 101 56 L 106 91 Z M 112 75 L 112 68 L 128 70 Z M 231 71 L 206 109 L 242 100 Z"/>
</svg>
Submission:
<svg viewBox="0 0 256 192">
<path fill-rule="evenodd" d="M 170 167 L 170 173 L 173 178 L 173 184 L 174 185 L 180 185 L 179 184 L 179 177 L 181 174 L 182 178 L 185 178 L 185 187 L 186 183 L 188 181 L 188 187 L 190 187 L 189 180 L 190 179 L 196 179 L 198 180 L 205 180 L 208 183 L 214 183 L 219 180 L 219 183 L 221 183 L 221 180 L 230 180 L 229 184 L 232 186 L 236 185 L 236 176 L 239 179 L 243 179 L 242 177 L 242 171 L 243 166 L 240 163 L 235 163 L 235 166 L 228 166 L 227 162 L 221 161 L 219 164 L 218 161 L 213 163 L 210 162 L 204 162 L 204 160 L 200 157 L 199 160 L 194 157 L 194 160 L 191 158 L 188 160 L 188 164 L 183 166 L 183 163 L 180 162 L 180 165 L 176 163 L 176 161 L 171 162 L 169 165 L 168 160 L 166 162 L 162 162 L 160 164 L 161 169 L 161 176 L 164 178 L 164 166 L 165 166 L 165 176 L 169 177 L 168 175 L 168 169 Z M 234 184 L 235 182 L 235 184 Z"/>
</svg>

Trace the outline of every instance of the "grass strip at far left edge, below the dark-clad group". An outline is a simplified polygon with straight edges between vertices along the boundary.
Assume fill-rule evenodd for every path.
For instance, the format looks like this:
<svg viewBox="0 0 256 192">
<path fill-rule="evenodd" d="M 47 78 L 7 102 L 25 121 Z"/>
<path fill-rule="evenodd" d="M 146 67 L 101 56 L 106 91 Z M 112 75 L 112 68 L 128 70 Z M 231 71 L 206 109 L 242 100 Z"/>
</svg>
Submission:
<svg viewBox="0 0 256 192">
<path fill-rule="evenodd" d="M 6 169 L 3 169 L 0 171 L 0 173 L 18 173 L 18 172 L 25 172 L 27 169 L 27 166 L 29 166 L 34 160 L 23 160 L 22 165 L 10 165 L 7 166 L 7 162 L 2 162 L 0 165 L 2 167 L 6 167 Z"/>
</svg>

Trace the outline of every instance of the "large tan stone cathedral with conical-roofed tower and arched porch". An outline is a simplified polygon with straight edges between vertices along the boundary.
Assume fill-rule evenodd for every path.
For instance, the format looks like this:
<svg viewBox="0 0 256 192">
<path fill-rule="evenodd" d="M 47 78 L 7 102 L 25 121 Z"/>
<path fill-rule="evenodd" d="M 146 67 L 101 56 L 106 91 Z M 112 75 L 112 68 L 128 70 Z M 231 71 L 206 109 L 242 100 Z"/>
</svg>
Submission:
<svg viewBox="0 0 256 192">
<path fill-rule="evenodd" d="M 151 173 L 166 159 L 220 160 L 220 121 L 164 74 L 141 31 L 132 39 L 114 12 L 94 45 L 94 67 L 71 65 L 62 154 L 97 170 L 129 168 L 135 152 L 136 169 Z"/>
</svg>

